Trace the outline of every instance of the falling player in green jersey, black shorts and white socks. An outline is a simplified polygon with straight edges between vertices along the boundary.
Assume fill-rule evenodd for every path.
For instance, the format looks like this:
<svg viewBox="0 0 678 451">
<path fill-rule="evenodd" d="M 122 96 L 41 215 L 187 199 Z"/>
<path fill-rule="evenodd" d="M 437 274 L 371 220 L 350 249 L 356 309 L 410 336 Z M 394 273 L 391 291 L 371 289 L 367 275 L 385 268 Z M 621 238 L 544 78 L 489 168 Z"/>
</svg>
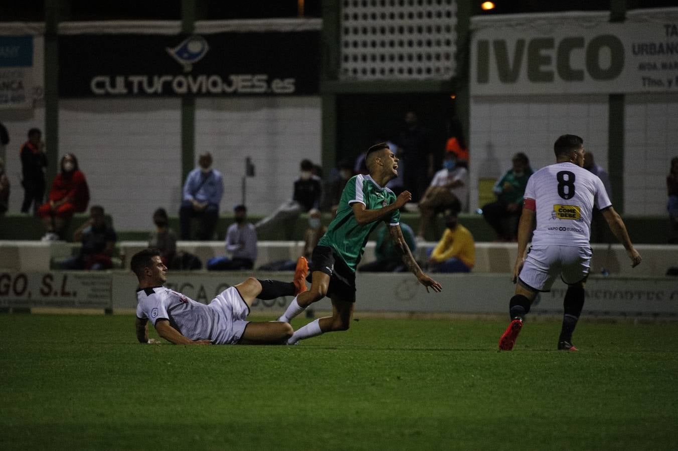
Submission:
<svg viewBox="0 0 678 451">
<path fill-rule="evenodd" d="M 396 198 L 393 191 L 386 188 L 388 181 L 398 176 L 398 158 L 386 143 L 380 143 L 367 150 L 365 162 L 370 175 L 355 175 L 346 182 L 337 214 L 313 250 L 311 289 L 295 297 L 279 321 L 290 322 L 308 305 L 325 296 L 332 299 L 332 316 L 306 324 L 294 332 L 287 344 L 294 345 L 324 332 L 348 329 L 355 305 L 355 268 L 365 251 L 367 236 L 379 221 L 386 222 L 395 248 L 426 291 L 428 288 L 436 292 L 442 290 L 441 284 L 422 272 L 400 230 L 400 208 L 412 194 L 405 191 Z"/>
</svg>

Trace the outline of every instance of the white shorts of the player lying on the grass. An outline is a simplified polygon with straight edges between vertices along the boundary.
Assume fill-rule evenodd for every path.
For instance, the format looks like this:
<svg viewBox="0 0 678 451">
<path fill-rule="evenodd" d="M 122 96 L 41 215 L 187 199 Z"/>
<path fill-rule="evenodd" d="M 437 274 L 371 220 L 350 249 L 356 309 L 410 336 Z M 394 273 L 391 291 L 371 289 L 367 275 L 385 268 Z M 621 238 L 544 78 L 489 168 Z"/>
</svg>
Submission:
<svg viewBox="0 0 678 451">
<path fill-rule="evenodd" d="M 230 286 L 219 293 L 210 302 L 218 316 L 218 326 L 213 339 L 216 345 L 237 345 L 243 337 L 249 321 L 250 307 L 241 297 L 235 286 Z"/>
</svg>

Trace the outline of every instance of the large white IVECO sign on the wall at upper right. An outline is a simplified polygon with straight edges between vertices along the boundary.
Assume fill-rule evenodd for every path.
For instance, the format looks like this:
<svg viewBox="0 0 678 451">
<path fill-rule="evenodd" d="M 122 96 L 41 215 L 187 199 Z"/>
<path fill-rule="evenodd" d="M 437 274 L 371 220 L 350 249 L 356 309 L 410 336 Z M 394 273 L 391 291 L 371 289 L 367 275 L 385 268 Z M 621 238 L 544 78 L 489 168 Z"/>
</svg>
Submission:
<svg viewBox="0 0 678 451">
<path fill-rule="evenodd" d="M 473 18 L 471 95 L 678 92 L 678 8 Z"/>
</svg>

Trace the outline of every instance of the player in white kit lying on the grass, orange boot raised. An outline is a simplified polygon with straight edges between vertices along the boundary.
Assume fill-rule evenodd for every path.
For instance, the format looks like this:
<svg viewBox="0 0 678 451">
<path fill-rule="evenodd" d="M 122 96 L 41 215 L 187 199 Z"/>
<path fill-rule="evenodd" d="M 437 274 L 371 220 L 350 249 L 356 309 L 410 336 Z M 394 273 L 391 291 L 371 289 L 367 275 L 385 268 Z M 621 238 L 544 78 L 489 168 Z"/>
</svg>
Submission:
<svg viewBox="0 0 678 451">
<path fill-rule="evenodd" d="M 175 345 L 282 345 L 292 337 L 292 326 L 279 321 L 245 320 L 252 301 L 294 296 L 306 289 L 302 268 L 295 272 L 294 282 L 247 278 L 205 305 L 163 286 L 167 267 L 157 249 L 136 253 L 131 266 L 139 280 L 136 338 L 140 343 L 157 343 L 148 340 L 151 320 L 158 335 Z M 306 267 L 305 261 L 302 266 Z"/>
</svg>

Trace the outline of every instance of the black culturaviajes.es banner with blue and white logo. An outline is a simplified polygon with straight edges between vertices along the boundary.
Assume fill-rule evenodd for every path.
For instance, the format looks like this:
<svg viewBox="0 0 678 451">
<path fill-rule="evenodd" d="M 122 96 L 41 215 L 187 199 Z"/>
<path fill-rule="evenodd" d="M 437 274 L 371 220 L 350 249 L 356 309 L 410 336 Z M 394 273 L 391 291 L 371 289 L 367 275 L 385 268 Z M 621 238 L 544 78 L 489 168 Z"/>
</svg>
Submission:
<svg viewBox="0 0 678 451">
<path fill-rule="evenodd" d="M 311 95 L 319 31 L 205 35 L 60 35 L 59 95 Z"/>
</svg>

